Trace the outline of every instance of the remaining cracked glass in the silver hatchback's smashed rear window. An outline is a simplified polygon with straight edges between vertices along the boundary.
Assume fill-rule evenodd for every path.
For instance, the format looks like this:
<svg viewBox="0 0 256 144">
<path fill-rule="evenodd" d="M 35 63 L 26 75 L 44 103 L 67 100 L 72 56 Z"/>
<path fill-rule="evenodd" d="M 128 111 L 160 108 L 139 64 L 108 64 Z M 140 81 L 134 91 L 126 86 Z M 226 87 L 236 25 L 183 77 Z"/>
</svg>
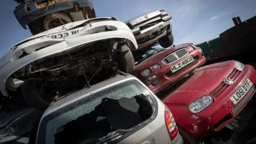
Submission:
<svg viewBox="0 0 256 144">
<path fill-rule="evenodd" d="M 91 94 L 77 102 L 74 101 L 42 119 L 39 125 L 37 143 L 54 143 L 56 133 L 63 131 L 61 129 L 65 124 L 91 113 L 106 98 L 118 100 L 141 94 L 148 95 L 148 91 L 138 81 L 131 80 Z"/>
</svg>

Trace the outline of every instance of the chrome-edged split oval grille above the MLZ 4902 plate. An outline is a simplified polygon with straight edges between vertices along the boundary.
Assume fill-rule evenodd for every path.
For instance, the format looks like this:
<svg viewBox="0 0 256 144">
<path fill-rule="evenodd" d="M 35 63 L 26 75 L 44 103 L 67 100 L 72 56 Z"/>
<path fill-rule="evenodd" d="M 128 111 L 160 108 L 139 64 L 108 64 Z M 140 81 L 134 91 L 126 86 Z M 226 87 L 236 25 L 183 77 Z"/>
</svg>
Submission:
<svg viewBox="0 0 256 144">
<path fill-rule="evenodd" d="M 170 63 L 173 63 L 183 57 L 185 57 L 188 54 L 188 50 L 187 49 L 181 49 L 179 51 L 173 52 L 170 55 L 168 55 L 167 57 L 165 57 L 162 62 L 167 65 Z"/>
</svg>

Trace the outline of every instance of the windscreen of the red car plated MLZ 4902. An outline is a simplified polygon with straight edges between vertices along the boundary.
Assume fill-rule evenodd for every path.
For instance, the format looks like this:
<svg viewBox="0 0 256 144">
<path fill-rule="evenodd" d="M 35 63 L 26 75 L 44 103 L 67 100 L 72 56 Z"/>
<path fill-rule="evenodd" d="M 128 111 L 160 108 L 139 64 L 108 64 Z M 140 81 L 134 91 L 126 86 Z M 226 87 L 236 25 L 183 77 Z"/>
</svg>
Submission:
<svg viewBox="0 0 256 144">
<path fill-rule="evenodd" d="M 135 66 L 139 65 L 142 61 L 146 60 L 147 58 L 164 51 L 165 49 L 163 48 L 156 48 L 156 47 L 150 47 L 146 51 L 141 51 L 141 52 L 135 52 L 134 53 L 134 61 L 135 61 Z"/>
</svg>

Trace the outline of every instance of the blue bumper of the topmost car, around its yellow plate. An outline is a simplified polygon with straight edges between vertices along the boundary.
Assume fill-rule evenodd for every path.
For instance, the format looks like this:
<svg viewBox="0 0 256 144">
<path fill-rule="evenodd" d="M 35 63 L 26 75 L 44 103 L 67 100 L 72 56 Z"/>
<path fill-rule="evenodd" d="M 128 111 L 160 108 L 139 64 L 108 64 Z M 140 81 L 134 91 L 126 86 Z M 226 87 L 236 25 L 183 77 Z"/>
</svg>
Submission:
<svg viewBox="0 0 256 144">
<path fill-rule="evenodd" d="M 41 0 L 41 1 L 44 1 L 44 0 Z M 40 1 L 34 1 L 27 5 L 27 9 L 29 10 L 28 14 L 35 15 L 35 14 L 44 12 L 45 7 L 42 9 L 38 9 L 38 5 L 37 5 L 38 2 L 40 2 Z M 53 5 L 49 5 L 47 11 L 45 13 L 43 13 L 42 15 L 38 15 L 38 16 L 30 16 L 30 15 L 25 14 L 25 12 L 24 12 L 25 5 L 21 5 L 16 10 L 14 10 L 14 15 L 15 15 L 16 19 L 19 21 L 20 25 L 24 29 L 27 29 L 26 25 L 28 23 L 30 23 L 31 21 L 42 18 L 45 15 L 48 15 L 50 13 L 57 12 L 56 7 L 58 7 L 58 11 L 73 9 L 74 2 L 78 3 L 79 6 L 81 6 L 81 7 L 89 6 L 91 10 L 93 9 L 93 4 L 92 4 L 91 0 L 67 0 L 66 2 L 57 2 Z"/>
</svg>

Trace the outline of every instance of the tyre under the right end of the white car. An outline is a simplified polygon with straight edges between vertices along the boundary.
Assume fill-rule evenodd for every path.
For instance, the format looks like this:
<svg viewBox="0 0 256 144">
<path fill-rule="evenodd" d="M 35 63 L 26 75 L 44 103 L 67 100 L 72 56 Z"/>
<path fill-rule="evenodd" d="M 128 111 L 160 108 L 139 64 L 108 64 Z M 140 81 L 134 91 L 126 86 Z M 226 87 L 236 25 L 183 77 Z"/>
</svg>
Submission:
<svg viewBox="0 0 256 144">
<path fill-rule="evenodd" d="M 118 62 L 118 67 L 125 73 L 131 73 L 134 70 L 135 62 L 131 50 L 127 45 L 121 45 L 120 47 L 121 58 Z"/>
</svg>

